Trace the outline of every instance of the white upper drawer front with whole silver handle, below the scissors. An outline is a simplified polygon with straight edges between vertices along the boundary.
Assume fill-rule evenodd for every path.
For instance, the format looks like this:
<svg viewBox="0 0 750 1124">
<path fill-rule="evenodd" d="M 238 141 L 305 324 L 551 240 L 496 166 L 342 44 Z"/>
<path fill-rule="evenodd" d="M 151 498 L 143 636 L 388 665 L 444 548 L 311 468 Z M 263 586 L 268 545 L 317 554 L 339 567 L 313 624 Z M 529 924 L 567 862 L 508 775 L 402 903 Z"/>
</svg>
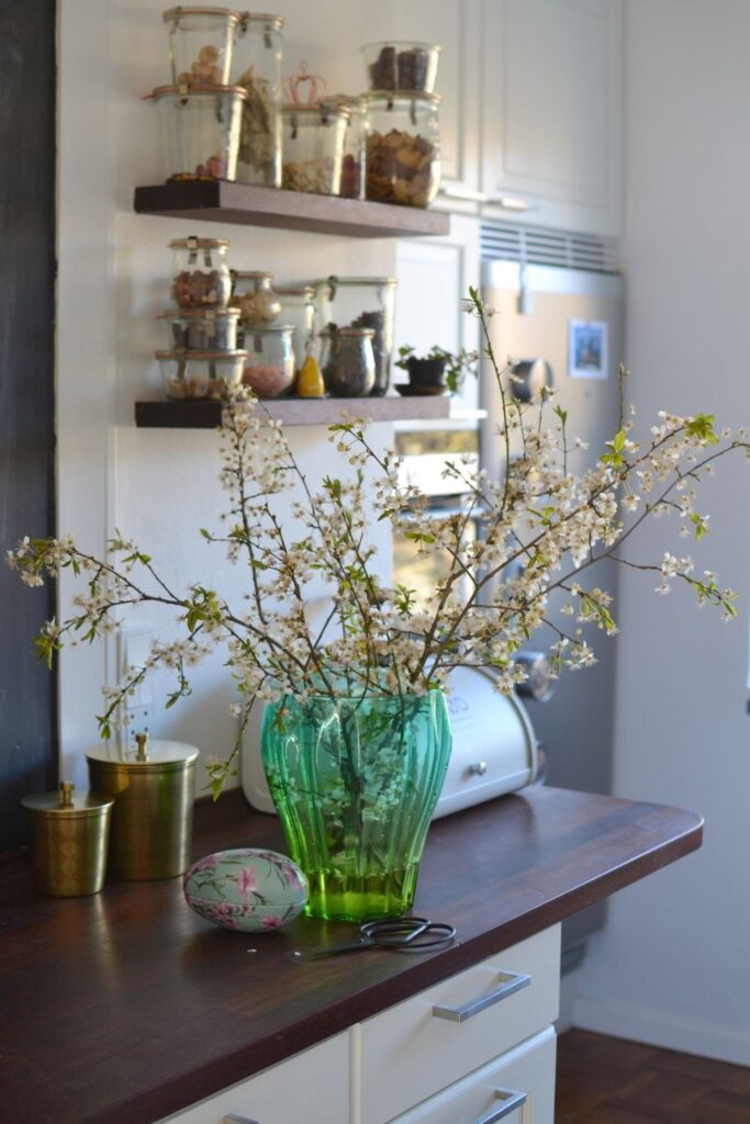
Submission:
<svg viewBox="0 0 750 1124">
<path fill-rule="evenodd" d="M 362 1124 L 392 1120 L 543 1030 L 559 991 L 555 925 L 368 1019 L 355 1059 Z"/>
</svg>

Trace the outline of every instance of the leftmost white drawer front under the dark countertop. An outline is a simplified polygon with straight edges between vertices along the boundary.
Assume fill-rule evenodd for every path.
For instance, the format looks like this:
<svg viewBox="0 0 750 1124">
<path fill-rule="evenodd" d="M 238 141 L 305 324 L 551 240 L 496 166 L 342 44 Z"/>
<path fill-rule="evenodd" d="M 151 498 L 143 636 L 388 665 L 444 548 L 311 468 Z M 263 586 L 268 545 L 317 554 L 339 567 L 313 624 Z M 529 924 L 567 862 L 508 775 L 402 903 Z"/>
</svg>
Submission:
<svg viewBox="0 0 750 1124">
<path fill-rule="evenodd" d="M 325 1090 L 316 1096 L 315 1091 Z M 160 1124 L 349 1124 L 349 1034 L 337 1034 Z"/>
</svg>

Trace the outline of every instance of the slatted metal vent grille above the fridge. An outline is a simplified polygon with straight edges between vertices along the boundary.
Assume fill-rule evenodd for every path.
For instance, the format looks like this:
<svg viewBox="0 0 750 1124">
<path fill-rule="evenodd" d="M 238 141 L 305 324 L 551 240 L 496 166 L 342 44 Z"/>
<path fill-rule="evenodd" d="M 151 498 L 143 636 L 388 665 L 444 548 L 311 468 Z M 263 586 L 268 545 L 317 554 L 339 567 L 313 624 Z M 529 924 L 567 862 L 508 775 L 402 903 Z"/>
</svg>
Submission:
<svg viewBox="0 0 750 1124">
<path fill-rule="evenodd" d="M 481 256 L 528 265 L 562 265 L 593 273 L 618 273 L 616 243 L 588 234 L 482 223 Z"/>
</svg>

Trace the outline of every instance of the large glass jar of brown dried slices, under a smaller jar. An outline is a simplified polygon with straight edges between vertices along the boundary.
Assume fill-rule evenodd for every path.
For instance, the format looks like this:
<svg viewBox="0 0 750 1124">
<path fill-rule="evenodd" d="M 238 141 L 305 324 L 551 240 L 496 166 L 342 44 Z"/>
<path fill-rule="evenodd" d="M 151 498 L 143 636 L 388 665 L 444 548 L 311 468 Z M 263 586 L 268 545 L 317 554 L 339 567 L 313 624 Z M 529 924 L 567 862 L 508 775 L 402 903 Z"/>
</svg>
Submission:
<svg viewBox="0 0 750 1124">
<path fill-rule="evenodd" d="M 367 105 L 367 198 L 427 207 L 440 187 L 440 97 L 372 93 Z"/>
</svg>

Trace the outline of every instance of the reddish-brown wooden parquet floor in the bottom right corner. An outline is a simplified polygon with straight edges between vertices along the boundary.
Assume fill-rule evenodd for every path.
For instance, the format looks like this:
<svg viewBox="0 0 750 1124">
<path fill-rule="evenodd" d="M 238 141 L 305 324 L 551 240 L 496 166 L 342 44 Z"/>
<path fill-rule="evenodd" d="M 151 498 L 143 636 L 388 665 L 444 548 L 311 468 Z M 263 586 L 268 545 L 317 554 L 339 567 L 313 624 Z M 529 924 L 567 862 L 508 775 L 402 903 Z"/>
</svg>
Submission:
<svg viewBox="0 0 750 1124">
<path fill-rule="evenodd" d="M 567 1031 L 554 1124 L 750 1124 L 750 1068 Z"/>
</svg>

